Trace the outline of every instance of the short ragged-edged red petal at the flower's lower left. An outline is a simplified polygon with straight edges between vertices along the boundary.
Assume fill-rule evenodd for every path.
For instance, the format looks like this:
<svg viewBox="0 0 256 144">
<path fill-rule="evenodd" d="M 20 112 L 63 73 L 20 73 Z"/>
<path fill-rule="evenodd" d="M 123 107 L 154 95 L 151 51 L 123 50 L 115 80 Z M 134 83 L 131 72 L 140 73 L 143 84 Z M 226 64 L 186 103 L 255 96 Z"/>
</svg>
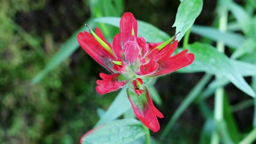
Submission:
<svg viewBox="0 0 256 144">
<path fill-rule="evenodd" d="M 119 76 L 120 74 L 106 75 L 104 73 L 100 73 L 102 80 L 96 81 L 98 84 L 96 86 L 96 91 L 99 94 L 105 94 L 121 89 L 127 83 L 127 81 L 118 81 Z"/>
</svg>

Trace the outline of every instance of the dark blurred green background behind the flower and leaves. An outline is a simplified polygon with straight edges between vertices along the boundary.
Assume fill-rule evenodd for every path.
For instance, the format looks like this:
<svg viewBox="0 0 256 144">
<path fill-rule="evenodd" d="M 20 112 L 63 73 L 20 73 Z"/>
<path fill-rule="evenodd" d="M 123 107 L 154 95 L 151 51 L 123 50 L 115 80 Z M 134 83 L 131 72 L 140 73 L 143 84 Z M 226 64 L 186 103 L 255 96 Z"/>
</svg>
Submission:
<svg viewBox="0 0 256 144">
<path fill-rule="evenodd" d="M 123 11 L 130 11 L 136 19 L 174 35 L 172 25 L 179 3 L 127 0 Z M 216 4 L 204 1 L 203 11 L 195 23 L 212 25 Z M 0 1 L 0 143 L 78 143 L 98 121 L 97 108 L 106 110 L 114 100 L 117 92 L 99 95 L 95 91 L 99 73 L 106 70 L 81 48 L 42 81 L 30 84 L 74 31 L 92 17 L 92 9 L 87 0 Z M 192 34 L 190 42 L 199 39 Z M 159 119 L 161 127 L 201 77 L 201 73 L 174 73 L 158 79 L 155 86 L 163 99 L 158 108 L 165 115 Z M 227 90 L 230 103 L 249 99 L 241 97 L 246 94 L 231 84 Z M 213 98 L 207 103 L 213 107 Z M 234 114 L 240 131 L 251 129 L 252 107 Z M 175 135 L 168 139 L 172 143 L 197 143 L 203 122 L 201 112 L 192 105 L 174 125 Z M 152 134 L 158 137 L 158 133 Z"/>
</svg>

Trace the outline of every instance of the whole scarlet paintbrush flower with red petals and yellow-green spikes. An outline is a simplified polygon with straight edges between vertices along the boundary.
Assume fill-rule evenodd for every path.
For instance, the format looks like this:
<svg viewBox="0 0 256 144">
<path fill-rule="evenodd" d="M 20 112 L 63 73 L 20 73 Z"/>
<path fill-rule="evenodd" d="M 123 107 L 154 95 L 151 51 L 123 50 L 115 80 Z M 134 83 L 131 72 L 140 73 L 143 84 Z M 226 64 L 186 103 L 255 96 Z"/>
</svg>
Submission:
<svg viewBox="0 0 256 144">
<path fill-rule="evenodd" d="M 120 34 L 109 44 L 101 31 L 91 34 L 85 31 L 77 36 L 78 43 L 100 65 L 112 74 L 100 73 L 96 91 L 100 94 L 116 91 L 127 85 L 127 95 L 133 111 L 150 130 L 160 129 L 157 117 L 163 114 L 156 109 L 150 98 L 147 78 L 172 73 L 194 61 L 194 54 L 184 50 L 176 55 L 173 52 L 178 41 L 171 38 L 164 43 L 146 43 L 138 37 L 137 20 L 130 12 L 124 13 L 120 21 Z M 152 80 L 152 78 L 151 78 Z"/>
</svg>

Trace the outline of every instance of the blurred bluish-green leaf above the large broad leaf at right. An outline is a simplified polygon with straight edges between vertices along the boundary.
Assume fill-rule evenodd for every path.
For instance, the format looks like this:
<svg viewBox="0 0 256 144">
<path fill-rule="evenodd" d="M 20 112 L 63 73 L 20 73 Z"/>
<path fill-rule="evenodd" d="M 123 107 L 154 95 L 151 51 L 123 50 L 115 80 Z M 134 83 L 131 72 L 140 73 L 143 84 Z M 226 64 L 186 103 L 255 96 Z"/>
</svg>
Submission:
<svg viewBox="0 0 256 144">
<path fill-rule="evenodd" d="M 217 28 L 212 28 L 212 27 L 206 27 L 206 26 L 193 26 L 191 28 L 191 32 L 210 38 L 214 41 L 220 41 L 223 44 L 230 46 L 230 47 L 235 47 L 238 48 L 243 44 L 245 41 L 245 37 L 240 34 L 232 33 L 232 32 L 220 32 L 219 29 Z"/>
</svg>

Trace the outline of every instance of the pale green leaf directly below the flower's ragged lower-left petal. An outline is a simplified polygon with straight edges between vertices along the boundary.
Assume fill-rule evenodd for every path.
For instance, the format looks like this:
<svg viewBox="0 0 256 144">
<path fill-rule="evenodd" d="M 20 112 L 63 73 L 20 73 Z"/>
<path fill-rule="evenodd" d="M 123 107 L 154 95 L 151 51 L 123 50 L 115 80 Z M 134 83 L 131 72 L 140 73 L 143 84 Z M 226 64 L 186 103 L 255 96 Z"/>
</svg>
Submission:
<svg viewBox="0 0 256 144">
<path fill-rule="evenodd" d="M 131 108 L 131 103 L 127 98 L 126 88 L 123 89 L 117 94 L 115 100 L 111 103 L 108 110 L 100 118 L 95 126 L 113 121 L 119 116 L 123 115 L 129 108 Z"/>
</svg>

